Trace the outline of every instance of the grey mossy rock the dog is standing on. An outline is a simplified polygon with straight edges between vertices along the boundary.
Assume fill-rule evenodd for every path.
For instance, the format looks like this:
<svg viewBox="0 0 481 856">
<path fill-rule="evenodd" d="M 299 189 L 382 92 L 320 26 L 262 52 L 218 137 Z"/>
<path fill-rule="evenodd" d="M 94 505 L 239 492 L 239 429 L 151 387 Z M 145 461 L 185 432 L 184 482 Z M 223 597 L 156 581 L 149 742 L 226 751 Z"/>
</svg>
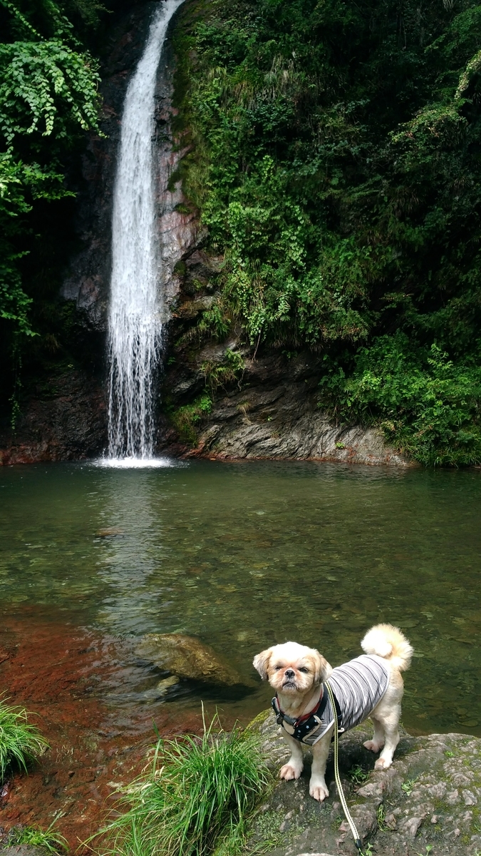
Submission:
<svg viewBox="0 0 481 856">
<path fill-rule="evenodd" d="M 277 772 L 288 758 L 280 728 L 270 712 L 258 728 Z M 377 756 L 362 746 L 370 738 L 369 723 L 343 735 L 339 764 L 354 823 L 365 847 L 371 842 L 373 856 L 481 853 L 481 740 L 466 734 L 403 734 L 392 767 L 375 771 Z M 298 782 L 276 784 L 254 822 L 252 846 L 272 841 L 269 856 L 357 853 L 336 793 L 332 750 L 326 775 L 330 797 L 321 804 L 309 796 L 309 758 Z M 359 782 L 359 768 L 365 782 Z"/>
</svg>

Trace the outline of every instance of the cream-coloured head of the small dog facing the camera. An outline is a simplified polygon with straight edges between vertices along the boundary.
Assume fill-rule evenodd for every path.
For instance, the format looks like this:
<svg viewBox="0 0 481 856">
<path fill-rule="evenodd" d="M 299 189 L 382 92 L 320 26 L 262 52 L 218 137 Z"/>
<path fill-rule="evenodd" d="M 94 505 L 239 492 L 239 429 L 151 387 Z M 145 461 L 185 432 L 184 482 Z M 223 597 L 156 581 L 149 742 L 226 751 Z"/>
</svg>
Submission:
<svg viewBox="0 0 481 856">
<path fill-rule="evenodd" d="M 276 693 L 305 695 L 324 681 L 328 663 L 315 648 L 286 642 L 261 651 L 253 666 Z"/>
</svg>

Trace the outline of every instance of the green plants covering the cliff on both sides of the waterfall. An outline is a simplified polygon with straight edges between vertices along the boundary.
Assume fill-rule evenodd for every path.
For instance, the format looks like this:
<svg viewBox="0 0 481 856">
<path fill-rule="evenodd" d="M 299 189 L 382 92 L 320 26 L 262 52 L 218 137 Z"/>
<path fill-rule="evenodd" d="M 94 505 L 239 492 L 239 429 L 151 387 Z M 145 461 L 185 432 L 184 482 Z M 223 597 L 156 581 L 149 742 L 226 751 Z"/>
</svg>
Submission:
<svg viewBox="0 0 481 856">
<path fill-rule="evenodd" d="M 108 19 L 98 0 L 0 0 L 1 392 L 14 409 L 21 360 L 24 379 L 70 366 L 86 336 L 58 291 Z M 381 425 L 428 465 L 479 463 L 481 5 L 186 0 L 174 45 L 191 149 L 173 181 L 224 259 L 189 336 L 241 326 L 252 353 L 312 349 L 337 420 Z"/>
</svg>

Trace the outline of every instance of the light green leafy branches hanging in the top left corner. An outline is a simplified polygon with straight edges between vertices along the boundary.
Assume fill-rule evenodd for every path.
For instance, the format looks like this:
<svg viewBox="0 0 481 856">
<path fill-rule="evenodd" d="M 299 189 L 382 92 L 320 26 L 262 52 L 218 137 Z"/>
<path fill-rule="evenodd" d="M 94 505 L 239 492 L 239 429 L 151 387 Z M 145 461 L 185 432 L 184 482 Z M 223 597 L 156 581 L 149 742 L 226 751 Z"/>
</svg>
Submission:
<svg viewBox="0 0 481 856">
<path fill-rule="evenodd" d="M 19 264 L 28 253 L 29 215 L 39 199 L 74 195 L 64 163 L 82 132 L 99 133 L 100 78 L 97 62 L 78 49 L 60 3 L 1 5 L 8 15 L 0 43 L 0 318 L 32 336 L 33 297 Z M 96 8 L 85 3 L 85 15 Z M 39 19 L 36 26 L 30 18 Z"/>
</svg>

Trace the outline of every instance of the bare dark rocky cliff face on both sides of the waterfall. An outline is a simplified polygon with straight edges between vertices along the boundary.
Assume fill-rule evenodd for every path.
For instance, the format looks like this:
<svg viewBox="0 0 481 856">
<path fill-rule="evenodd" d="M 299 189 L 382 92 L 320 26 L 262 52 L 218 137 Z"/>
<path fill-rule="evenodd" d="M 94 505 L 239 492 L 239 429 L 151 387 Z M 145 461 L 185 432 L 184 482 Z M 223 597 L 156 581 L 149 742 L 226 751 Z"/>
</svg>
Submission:
<svg viewBox="0 0 481 856">
<path fill-rule="evenodd" d="M 118 16 L 104 46 L 104 138 L 92 136 L 78 187 L 80 252 L 71 261 L 63 300 L 75 306 L 85 348 L 104 350 L 110 281 L 110 221 L 122 105 L 128 79 L 145 43 L 152 3 Z M 175 19 L 171 26 L 175 26 Z M 184 198 L 178 165 L 187 148 L 172 131 L 171 45 L 157 80 L 157 211 L 165 308 L 163 386 L 158 407 L 158 452 L 225 458 L 294 458 L 406 465 L 379 431 L 336 425 L 318 407 L 322 375 L 317 355 L 263 353 L 241 330 L 225 342 L 205 342 L 196 324 L 216 300 L 223 259 L 203 249 L 198 212 Z M 99 344 L 100 343 L 100 344 Z M 0 426 L 3 463 L 98 455 L 106 445 L 102 366 L 58 367 L 21 402 L 15 435 Z M 201 401 L 199 402 L 199 398 Z"/>
</svg>

